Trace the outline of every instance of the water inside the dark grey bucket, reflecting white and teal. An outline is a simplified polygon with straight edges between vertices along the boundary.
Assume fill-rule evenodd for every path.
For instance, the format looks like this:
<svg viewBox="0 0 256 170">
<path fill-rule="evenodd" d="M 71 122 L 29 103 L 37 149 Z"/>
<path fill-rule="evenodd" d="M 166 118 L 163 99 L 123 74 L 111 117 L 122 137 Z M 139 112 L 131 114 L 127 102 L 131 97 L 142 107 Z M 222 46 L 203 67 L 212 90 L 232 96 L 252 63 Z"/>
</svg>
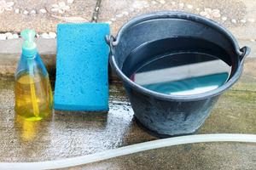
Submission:
<svg viewBox="0 0 256 170">
<path fill-rule="evenodd" d="M 198 41 L 203 40 L 198 39 Z M 145 50 L 145 48 L 152 48 L 152 46 L 146 43 L 136 50 Z M 136 57 L 133 56 L 137 54 L 136 50 L 130 54 L 129 58 Z M 197 52 L 195 49 L 166 51 L 150 57 L 138 66 L 131 74 L 131 80 L 157 93 L 191 95 L 216 89 L 230 77 L 231 66 L 219 56 L 208 54 L 207 51 L 205 53 Z"/>
</svg>

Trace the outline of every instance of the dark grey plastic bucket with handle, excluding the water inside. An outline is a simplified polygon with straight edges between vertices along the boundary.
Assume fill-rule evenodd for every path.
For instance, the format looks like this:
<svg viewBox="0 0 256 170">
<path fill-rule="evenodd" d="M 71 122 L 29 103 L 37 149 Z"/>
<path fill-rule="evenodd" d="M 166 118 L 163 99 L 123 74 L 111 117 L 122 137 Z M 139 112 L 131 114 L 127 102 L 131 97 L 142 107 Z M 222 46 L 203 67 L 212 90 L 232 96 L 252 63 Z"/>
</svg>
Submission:
<svg viewBox="0 0 256 170">
<path fill-rule="evenodd" d="M 156 93 L 131 81 L 124 71 L 128 55 L 143 43 L 170 37 L 198 37 L 218 44 L 224 49 L 222 59 L 232 65 L 230 79 L 212 91 L 185 96 Z M 126 23 L 116 37 L 108 36 L 107 42 L 111 50 L 110 64 L 124 83 L 134 116 L 143 127 L 161 137 L 195 133 L 209 116 L 219 95 L 241 76 L 244 58 L 249 53 L 249 48 L 239 48 L 230 31 L 218 23 L 199 15 L 172 11 L 138 16 Z M 196 45 L 192 41 L 185 44 L 177 43 L 170 48 L 211 48 L 211 53 L 219 50 L 205 46 L 207 45 Z M 145 57 L 143 54 L 156 54 L 158 50 L 161 49 L 156 46 L 143 49 L 140 53 Z M 139 58 L 140 55 L 137 55 L 137 59 L 125 64 L 126 70 L 138 65 Z"/>
</svg>

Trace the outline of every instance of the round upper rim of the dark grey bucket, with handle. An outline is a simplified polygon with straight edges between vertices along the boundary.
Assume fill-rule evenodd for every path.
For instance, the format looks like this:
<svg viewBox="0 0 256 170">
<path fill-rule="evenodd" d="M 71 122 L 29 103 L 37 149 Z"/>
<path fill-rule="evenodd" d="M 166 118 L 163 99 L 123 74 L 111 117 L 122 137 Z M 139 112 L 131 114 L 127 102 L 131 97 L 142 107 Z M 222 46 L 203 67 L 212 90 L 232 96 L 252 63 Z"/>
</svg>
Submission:
<svg viewBox="0 0 256 170">
<path fill-rule="evenodd" d="M 233 48 L 236 50 L 237 58 L 238 58 L 238 67 L 235 72 L 235 74 L 230 77 L 230 80 L 228 82 L 225 82 L 222 86 L 213 89 L 211 91 L 201 93 L 201 94 L 190 94 L 190 95 L 173 95 L 173 94 L 161 94 L 158 92 L 154 92 L 152 90 L 149 90 L 148 88 L 143 88 L 142 86 L 138 85 L 136 82 L 132 82 L 130 78 L 126 77 L 126 75 L 119 69 L 119 65 L 117 65 L 115 55 L 114 55 L 114 47 L 118 45 L 119 39 L 122 36 L 123 32 L 125 32 L 127 29 L 129 29 L 131 26 L 135 26 L 141 22 L 148 21 L 148 20 L 155 20 L 155 19 L 182 19 L 182 20 L 191 20 L 195 22 L 199 22 L 203 25 L 207 25 L 212 27 L 214 30 L 219 31 L 226 37 L 232 44 Z M 111 39 L 111 38 L 110 38 Z M 142 14 L 139 15 L 130 21 L 128 21 L 124 26 L 122 26 L 116 36 L 116 38 L 113 38 L 113 42 L 110 40 L 110 48 L 112 53 L 110 54 L 110 64 L 112 65 L 112 68 L 117 73 L 117 75 L 125 82 L 127 83 L 131 88 L 134 88 L 138 91 L 140 91 L 143 94 L 146 94 L 148 96 L 154 96 L 154 98 L 157 99 L 163 99 L 163 100 L 175 100 L 175 101 L 194 101 L 194 100 L 201 100 L 201 99 L 209 99 L 214 96 L 218 96 L 219 94 L 222 94 L 224 90 L 230 88 L 239 77 L 241 77 L 241 71 L 243 67 L 243 55 L 246 55 L 241 51 L 239 48 L 238 42 L 236 41 L 236 38 L 225 29 L 223 26 L 218 24 L 217 22 L 213 20 L 208 20 L 207 18 L 201 17 L 198 14 L 190 14 L 186 12 L 180 12 L 180 11 L 159 11 L 149 14 Z"/>
</svg>

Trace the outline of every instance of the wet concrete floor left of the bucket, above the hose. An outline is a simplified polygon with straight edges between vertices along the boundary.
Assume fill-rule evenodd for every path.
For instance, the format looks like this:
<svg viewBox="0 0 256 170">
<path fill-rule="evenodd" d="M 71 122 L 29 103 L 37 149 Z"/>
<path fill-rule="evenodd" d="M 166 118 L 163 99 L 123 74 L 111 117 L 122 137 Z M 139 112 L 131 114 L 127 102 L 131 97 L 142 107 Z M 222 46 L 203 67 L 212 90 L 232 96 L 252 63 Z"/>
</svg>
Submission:
<svg viewBox="0 0 256 170">
<path fill-rule="evenodd" d="M 111 86 L 108 113 L 55 111 L 44 122 L 15 116 L 14 83 L 1 80 L 0 87 L 0 161 L 55 160 L 155 139 L 132 122 L 131 105 L 120 86 Z"/>
</svg>

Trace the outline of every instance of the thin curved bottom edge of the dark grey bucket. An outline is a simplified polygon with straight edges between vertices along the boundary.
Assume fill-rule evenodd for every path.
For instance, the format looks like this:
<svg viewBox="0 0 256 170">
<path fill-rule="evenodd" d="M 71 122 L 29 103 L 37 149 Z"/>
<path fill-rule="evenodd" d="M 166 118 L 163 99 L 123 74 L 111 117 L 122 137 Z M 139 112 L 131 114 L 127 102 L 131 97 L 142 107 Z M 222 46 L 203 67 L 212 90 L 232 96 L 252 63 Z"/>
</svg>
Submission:
<svg viewBox="0 0 256 170">
<path fill-rule="evenodd" d="M 177 134 L 177 135 L 170 135 L 170 134 L 160 134 L 160 133 L 157 133 L 153 130 L 150 130 L 148 129 L 148 127 L 145 127 L 143 125 L 143 123 L 141 123 L 136 116 L 133 117 L 135 122 L 137 123 L 137 125 L 139 127 L 141 127 L 145 132 L 149 133 L 150 135 L 154 136 L 154 137 L 157 137 L 157 138 L 160 138 L 160 139 L 165 139 L 165 138 L 172 138 L 172 137 L 177 137 L 177 136 L 184 136 L 184 135 L 191 135 L 191 134 L 195 134 L 198 132 L 199 128 L 195 130 L 195 132 L 193 133 L 182 133 L 182 134 Z"/>
</svg>

